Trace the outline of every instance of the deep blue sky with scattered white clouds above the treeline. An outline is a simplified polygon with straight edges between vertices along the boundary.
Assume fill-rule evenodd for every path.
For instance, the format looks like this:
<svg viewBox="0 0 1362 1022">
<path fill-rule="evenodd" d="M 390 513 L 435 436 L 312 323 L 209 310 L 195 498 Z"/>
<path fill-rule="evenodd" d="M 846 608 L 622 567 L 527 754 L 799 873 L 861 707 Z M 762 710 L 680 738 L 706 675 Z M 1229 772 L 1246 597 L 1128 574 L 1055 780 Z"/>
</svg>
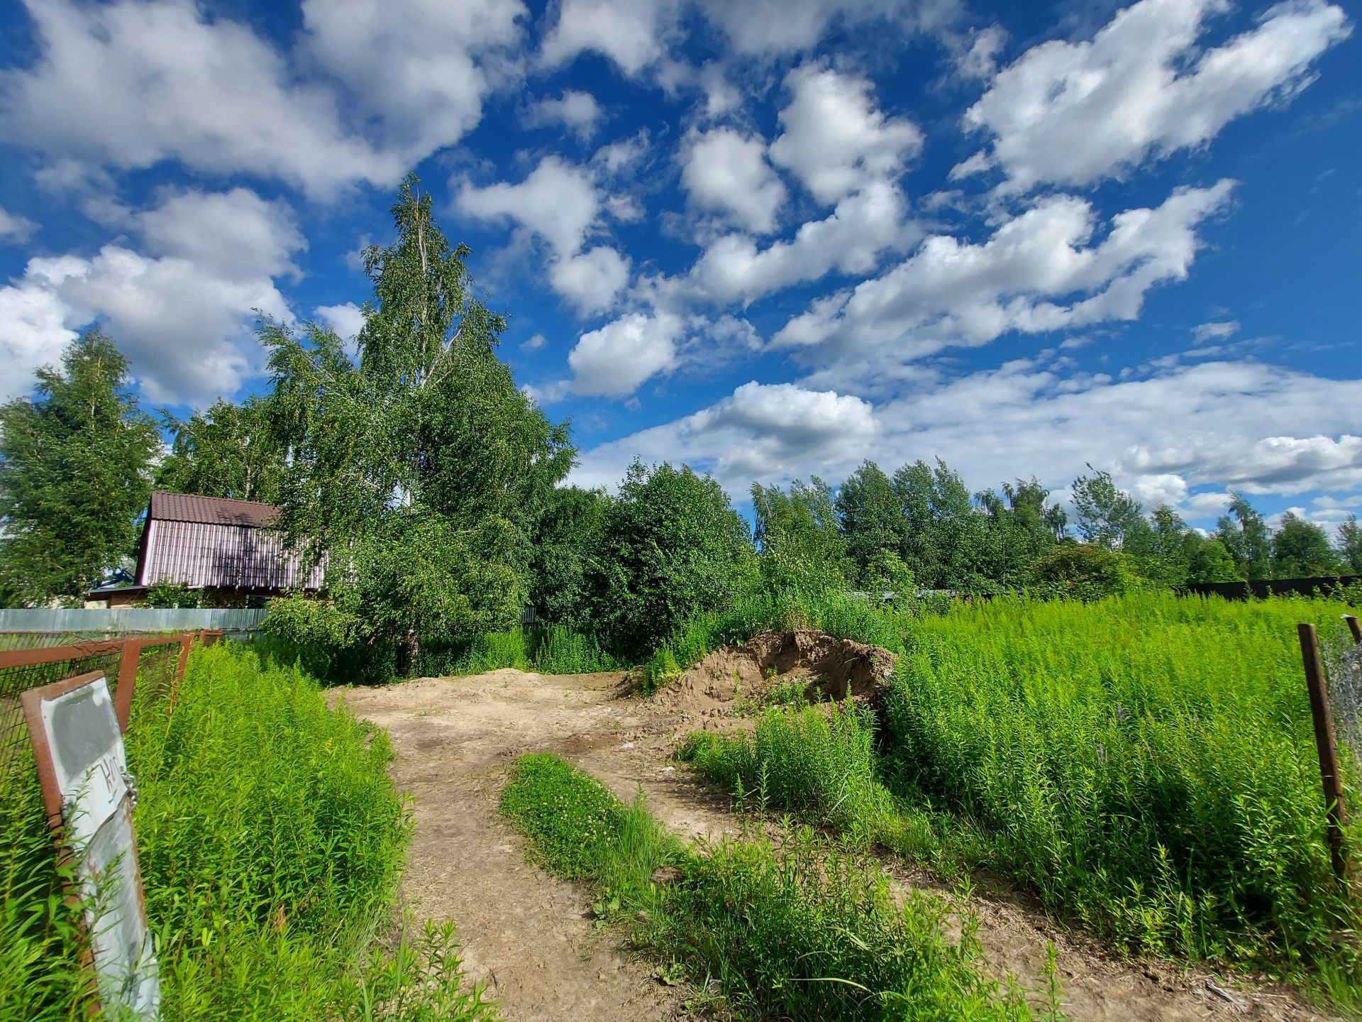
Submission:
<svg viewBox="0 0 1362 1022">
<path fill-rule="evenodd" d="M 1020 10 L 1019 10 L 1020 8 Z M 346 335 L 415 170 L 573 480 L 1091 462 L 1208 526 L 1362 511 L 1362 52 L 1324 0 L 30 0 L 0 14 L 0 397 Z"/>
</svg>

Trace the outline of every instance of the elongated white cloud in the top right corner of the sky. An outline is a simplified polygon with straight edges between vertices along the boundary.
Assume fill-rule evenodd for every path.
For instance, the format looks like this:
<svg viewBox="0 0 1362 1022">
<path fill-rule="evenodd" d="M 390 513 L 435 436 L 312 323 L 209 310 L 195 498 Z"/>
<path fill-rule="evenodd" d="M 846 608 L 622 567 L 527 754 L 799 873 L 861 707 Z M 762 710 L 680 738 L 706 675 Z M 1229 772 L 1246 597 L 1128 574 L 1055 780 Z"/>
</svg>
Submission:
<svg viewBox="0 0 1362 1022">
<path fill-rule="evenodd" d="M 998 165 L 1007 191 L 1088 185 L 1205 144 L 1235 117 L 1290 98 L 1351 29 L 1324 0 L 1269 7 L 1257 27 L 1199 48 L 1226 0 L 1140 0 L 1091 41 L 1051 40 L 998 72 L 964 124 L 990 138 L 957 174 Z"/>
</svg>

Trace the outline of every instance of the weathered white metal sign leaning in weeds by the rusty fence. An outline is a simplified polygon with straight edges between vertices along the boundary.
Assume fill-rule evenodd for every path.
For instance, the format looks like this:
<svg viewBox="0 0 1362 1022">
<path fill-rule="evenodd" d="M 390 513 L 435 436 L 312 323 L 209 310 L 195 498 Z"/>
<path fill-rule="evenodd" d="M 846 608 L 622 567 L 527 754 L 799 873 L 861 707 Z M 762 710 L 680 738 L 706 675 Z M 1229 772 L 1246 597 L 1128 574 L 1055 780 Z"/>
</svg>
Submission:
<svg viewBox="0 0 1362 1022">
<path fill-rule="evenodd" d="M 157 961 L 142 901 L 132 835 L 136 781 L 102 673 L 23 694 L 49 818 L 63 824 L 90 908 L 91 958 L 99 1002 L 113 1014 L 154 1019 L 161 1003 Z"/>
</svg>

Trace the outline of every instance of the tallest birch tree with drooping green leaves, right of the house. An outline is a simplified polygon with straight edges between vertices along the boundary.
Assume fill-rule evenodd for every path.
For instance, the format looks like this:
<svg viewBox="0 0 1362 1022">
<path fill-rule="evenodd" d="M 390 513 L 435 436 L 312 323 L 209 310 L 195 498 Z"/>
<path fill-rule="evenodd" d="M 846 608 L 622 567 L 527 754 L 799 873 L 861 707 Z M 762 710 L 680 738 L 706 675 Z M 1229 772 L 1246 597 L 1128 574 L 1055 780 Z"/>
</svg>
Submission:
<svg viewBox="0 0 1362 1022">
<path fill-rule="evenodd" d="M 414 177 L 392 215 L 396 240 L 365 253 L 358 364 L 327 327 L 259 332 L 290 462 L 279 525 L 312 556 L 330 552 L 327 630 L 398 643 L 405 672 L 422 640 L 519 619 L 535 516 L 575 451 L 493 354 L 505 323 L 473 297 L 469 249 L 451 248 Z M 312 642 L 316 624 L 290 613 L 281 634 Z"/>
</svg>

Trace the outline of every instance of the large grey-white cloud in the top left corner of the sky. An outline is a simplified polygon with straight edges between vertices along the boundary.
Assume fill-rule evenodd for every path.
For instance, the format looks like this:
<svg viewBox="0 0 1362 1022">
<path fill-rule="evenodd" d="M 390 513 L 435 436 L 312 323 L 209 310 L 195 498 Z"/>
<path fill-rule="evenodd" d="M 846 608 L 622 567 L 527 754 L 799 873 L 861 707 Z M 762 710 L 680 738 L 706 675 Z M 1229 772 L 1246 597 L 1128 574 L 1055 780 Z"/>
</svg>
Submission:
<svg viewBox="0 0 1362 1022">
<path fill-rule="evenodd" d="M 39 57 L 0 72 L 0 136 L 114 168 L 180 159 L 315 193 L 387 185 L 405 166 L 347 131 L 334 93 L 298 82 L 248 26 L 188 0 L 30 0 Z"/>
</svg>

